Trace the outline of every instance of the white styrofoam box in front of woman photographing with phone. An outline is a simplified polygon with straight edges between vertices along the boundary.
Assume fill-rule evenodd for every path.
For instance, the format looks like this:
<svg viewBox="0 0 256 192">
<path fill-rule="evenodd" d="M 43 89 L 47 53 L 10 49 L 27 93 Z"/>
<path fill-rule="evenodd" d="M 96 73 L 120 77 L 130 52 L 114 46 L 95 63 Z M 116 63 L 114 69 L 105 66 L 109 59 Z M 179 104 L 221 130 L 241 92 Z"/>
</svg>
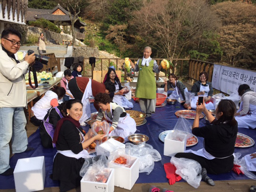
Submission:
<svg viewBox="0 0 256 192">
<path fill-rule="evenodd" d="M 186 150 L 186 134 L 176 133 L 176 137 L 181 141 L 173 140 L 175 132 L 169 132 L 164 138 L 163 155 L 172 157 L 176 153 L 182 153 Z"/>
</svg>

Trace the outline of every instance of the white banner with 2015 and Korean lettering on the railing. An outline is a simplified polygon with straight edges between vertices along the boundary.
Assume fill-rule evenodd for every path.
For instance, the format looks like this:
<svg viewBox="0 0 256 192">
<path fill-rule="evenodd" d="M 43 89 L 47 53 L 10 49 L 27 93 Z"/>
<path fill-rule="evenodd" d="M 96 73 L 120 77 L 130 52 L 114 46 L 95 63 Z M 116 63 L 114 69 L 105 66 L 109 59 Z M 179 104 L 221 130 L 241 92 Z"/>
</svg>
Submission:
<svg viewBox="0 0 256 192">
<path fill-rule="evenodd" d="M 238 94 L 240 84 L 248 84 L 251 90 L 256 91 L 256 72 L 214 65 L 212 87 L 227 94 Z"/>
</svg>

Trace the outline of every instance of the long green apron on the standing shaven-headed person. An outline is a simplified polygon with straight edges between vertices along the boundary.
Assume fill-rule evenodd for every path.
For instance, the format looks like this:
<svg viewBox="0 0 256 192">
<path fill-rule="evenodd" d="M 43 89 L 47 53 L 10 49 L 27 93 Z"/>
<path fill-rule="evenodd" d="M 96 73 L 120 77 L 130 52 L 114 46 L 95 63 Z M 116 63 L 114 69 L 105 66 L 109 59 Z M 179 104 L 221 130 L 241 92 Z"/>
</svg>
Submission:
<svg viewBox="0 0 256 192">
<path fill-rule="evenodd" d="M 156 98 L 156 80 L 153 72 L 154 60 L 150 61 L 150 66 L 142 66 L 142 59 L 139 60 L 139 76 L 136 86 L 135 97 L 144 99 Z"/>
</svg>

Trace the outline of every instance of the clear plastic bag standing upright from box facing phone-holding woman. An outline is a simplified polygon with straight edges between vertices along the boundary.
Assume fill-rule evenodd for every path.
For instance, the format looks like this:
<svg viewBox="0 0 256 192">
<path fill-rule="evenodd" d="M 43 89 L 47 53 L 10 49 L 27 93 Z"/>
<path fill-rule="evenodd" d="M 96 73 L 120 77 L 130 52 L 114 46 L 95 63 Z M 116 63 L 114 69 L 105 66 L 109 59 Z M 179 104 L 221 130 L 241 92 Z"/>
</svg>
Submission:
<svg viewBox="0 0 256 192">
<path fill-rule="evenodd" d="M 178 137 L 178 135 L 186 134 L 186 138 L 193 137 L 192 125 L 183 116 L 179 117 L 177 123 L 174 126 L 174 134 L 172 138 Z"/>
</svg>

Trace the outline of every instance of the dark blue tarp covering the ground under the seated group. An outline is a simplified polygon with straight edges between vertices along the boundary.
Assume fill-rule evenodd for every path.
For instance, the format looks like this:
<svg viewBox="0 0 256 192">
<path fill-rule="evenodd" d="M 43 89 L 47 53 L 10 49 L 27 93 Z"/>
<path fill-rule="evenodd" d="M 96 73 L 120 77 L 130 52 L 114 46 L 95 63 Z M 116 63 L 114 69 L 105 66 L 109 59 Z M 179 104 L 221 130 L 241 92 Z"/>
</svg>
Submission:
<svg viewBox="0 0 256 192">
<path fill-rule="evenodd" d="M 133 110 L 140 111 L 140 107 L 138 103 L 134 104 Z M 178 118 L 175 116 L 175 112 L 178 110 L 184 110 L 183 106 L 179 103 L 175 105 L 168 105 L 162 106 L 161 108 L 156 108 L 156 113 L 152 115 L 152 117 L 146 118 L 147 122 L 144 125 L 137 126 L 136 133 L 142 133 L 147 135 L 150 139 L 147 141 L 147 144 L 152 145 L 162 156 L 162 160 L 159 162 L 155 162 L 154 170 L 149 174 L 146 175 L 142 173 L 139 175 L 139 178 L 136 183 L 156 183 L 156 182 L 168 182 L 166 179 L 166 175 L 164 172 L 163 164 L 170 161 L 170 157 L 163 155 L 163 147 L 164 143 L 159 140 L 158 136 L 161 132 L 166 130 L 174 129 Z M 91 111 L 95 112 L 95 108 L 91 103 Z M 188 121 L 193 124 L 193 120 L 188 119 Z M 205 119 L 200 119 L 200 126 L 205 125 Z M 84 127 L 84 130 L 88 130 L 89 126 Z M 239 129 L 239 133 L 243 133 L 245 135 L 250 136 L 254 141 L 256 140 L 255 130 L 251 129 Z M 199 150 L 203 146 L 203 138 L 198 137 L 199 142 L 198 144 L 187 147 L 187 149 L 191 149 L 194 151 Z M 45 180 L 45 187 L 54 187 L 59 186 L 57 181 L 53 181 L 49 178 L 50 174 L 52 173 L 52 166 L 53 166 L 53 157 L 56 154 L 56 149 L 47 149 L 42 147 L 41 140 L 39 136 L 39 130 L 33 133 L 29 137 L 29 146 L 34 147 L 35 150 L 31 152 L 25 152 L 21 154 L 15 154 L 10 159 L 11 167 L 15 167 L 17 160 L 20 158 L 28 158 L 28 157 L 37 157 L 37 156 L 45 156 L 45 166 L 46 166 L 46 180 Z M 255 145 L 247 148 L 236 148 L 235 153 L 241 153 L 242 156 L 247 154 L 251 154 L 256 152 Z M 220 174 L 220 175 L 210 175 L 209 176 L 213 180 L 240 180 L 240 179 L 248 179 L 246 176 L 237 175 L 233 172 Z M 182 180 L 183 181 L 183 180 Z M 14 185 L 14 178 L 13 176 L 0 176 L 0 189 L 8 189 L 8 188 L 15 188 Z"/>
</svg>

